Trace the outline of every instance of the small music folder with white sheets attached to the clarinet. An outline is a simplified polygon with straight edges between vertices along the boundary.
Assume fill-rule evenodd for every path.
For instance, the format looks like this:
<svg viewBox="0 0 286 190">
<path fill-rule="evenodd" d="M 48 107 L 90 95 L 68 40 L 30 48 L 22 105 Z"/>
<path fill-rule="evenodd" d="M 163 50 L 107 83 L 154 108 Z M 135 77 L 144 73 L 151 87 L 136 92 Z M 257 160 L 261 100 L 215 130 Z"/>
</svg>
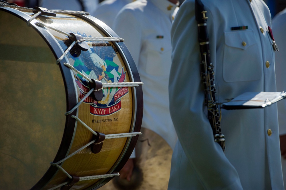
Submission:
<svg viewBox="0 0 286 190">
<path fill-rule="evenodd" d="M 222 103 L 222 109 L 251 109 L 264 108 L 277 101 L 286 98 L 286 93 L 283 92 L 246 92 L 231 101 Z"/>
</svg>

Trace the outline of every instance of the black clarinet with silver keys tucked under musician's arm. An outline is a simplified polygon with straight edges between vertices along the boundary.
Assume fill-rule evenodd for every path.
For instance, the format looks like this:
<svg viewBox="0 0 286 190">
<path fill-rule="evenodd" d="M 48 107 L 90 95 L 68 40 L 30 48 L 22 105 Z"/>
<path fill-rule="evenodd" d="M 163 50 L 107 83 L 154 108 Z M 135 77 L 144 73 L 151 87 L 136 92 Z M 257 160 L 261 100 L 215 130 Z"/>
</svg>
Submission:
<svg viewBox="0 0 286 190">
<path fill-rule="evenodd" d="M 205 103 L 207 106 L 207 117 L 212 127 L 215 142 L 219 143 L 225 151 L 225 136 L 221 133 L 221 111 L 216 98 L 214 66 L 210 62 L 209 39 L 206 27 L 206 12 L 200 0 L 195 0 L 195 14 L 198 23 L 198 41 L 200 44 L 200 75 L 204 84 Z"/>
</svg>

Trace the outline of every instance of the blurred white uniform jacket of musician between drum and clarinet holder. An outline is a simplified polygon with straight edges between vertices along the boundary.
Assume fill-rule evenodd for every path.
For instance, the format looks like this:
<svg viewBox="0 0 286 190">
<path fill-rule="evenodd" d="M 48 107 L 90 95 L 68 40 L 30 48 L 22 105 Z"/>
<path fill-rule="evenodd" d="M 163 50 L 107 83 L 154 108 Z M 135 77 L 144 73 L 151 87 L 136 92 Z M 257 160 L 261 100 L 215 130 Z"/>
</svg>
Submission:
<svg viewBox="0 0 286 190">
<path fill-rule="evenodd" d="M 144 83 L 142 127 L 159 134 L 172 149 L 177 136 L 169 111 L 168 81 L 170 31 L 177 9 L 167 0 L 137 0 L 121 9 L 113 27 L 124 39 Z"/>
</svg>

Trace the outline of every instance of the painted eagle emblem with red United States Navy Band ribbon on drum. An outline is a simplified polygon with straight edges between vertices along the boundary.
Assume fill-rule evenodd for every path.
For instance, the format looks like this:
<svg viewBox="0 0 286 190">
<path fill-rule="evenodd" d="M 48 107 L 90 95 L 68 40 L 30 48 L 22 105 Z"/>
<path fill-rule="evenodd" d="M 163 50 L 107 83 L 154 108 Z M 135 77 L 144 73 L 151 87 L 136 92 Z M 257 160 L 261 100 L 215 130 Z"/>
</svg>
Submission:
<svg viewBox="0 0 286 190">
<path fill-rule="evenodd" d="M 85 36 L 85 34 L 82 34 Z M 68 41 L 62 41 L 66 46 Z M 79 53 L 80 52 L 80 53 Z M 90 43 L 88 51 L 70 51 L 67 55 L 74 67 L 90 79 L 96 79 L 102 83 L 122 83 L 126 79 L 124 67 L 120 67 L 117 50 L 111 44 Z M 79 89 L 79 98 L 82 99 L 89 91 L 88 82 L 81 75 L 74 73 L 76 85 Z M 128 87 L 111 87 L 103 89 L 102 101 L 95 101 L 92 96 L 84 100 L 90 104 L 90 114 L 106 116 L 116 113 L 121 109 L 121 98 L 129 92 Z"/>
</svg>

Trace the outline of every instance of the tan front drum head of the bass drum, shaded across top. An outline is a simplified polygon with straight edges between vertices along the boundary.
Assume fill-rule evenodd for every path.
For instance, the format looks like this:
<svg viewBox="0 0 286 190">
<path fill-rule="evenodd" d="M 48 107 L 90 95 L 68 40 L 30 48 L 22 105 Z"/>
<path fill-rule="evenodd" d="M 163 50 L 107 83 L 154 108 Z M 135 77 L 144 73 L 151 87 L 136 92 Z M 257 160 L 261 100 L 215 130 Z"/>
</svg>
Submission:
<svg viewBox="0 0 286 190">
<path fill-rule="evenodd" d="M 0 189 L 30 189 L 59 149 L 65 87 L 43 38 L 7 12 L 0 17 Z"/>
</svg>

